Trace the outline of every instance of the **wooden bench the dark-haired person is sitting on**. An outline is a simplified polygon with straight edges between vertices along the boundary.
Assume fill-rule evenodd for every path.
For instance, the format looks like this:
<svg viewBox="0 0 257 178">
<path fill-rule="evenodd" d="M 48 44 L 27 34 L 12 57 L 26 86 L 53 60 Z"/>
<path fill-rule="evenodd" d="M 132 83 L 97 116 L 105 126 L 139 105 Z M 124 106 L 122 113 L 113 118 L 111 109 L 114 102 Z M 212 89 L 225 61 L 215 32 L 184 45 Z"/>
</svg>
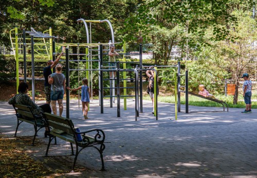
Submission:
<svg viewBox="0 0 257 178">
<path fill-rule="evenodd" d="M 38 131 L 41 128 L 45 128 L 47 125 L 45 119 L 42 116 L 35 116 L 33 114 L 33 109 L 31 106 L 26 106 L 22 104 L 13 104 L 12 106 L 15 109 L 16 117 L 17 117 L 17 127 L 15 130 L 14 136 L 16 136 L 17 130 L 21 123 L 27 122 L 29 124 L 32 124 L 35 130 L 34 138 L 32 142 L 32 145 L 34 145 L 35 137 L 37 136 Z"/>
</svg>

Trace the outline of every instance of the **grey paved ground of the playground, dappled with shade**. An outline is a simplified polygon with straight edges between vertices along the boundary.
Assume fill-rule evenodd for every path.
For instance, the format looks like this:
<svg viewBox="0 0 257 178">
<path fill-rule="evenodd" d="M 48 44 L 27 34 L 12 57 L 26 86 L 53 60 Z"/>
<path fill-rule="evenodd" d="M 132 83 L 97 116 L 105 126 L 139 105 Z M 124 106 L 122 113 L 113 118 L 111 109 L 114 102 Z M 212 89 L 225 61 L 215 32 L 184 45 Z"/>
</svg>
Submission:
<svg viewBox="0 0 257 178">
<path fill-rule="evenodd" d="M 191 113 L 178 113 L 175 120 L 174 104 L 159 103 L 159 117 L 151 114 L 151 102 L 143 101 L 143 113 L 135 121 L 134 100 L 121 107 L 109 108 L 104 102 L 100 114 L 98 100 L 90 103 L 84 120 L 77 101 L 71 101 L 70 118 L 80 130 L 101 128 L 106 135 L 102 172 L 99 153 L 93 148 L 83 150 L 77 161 L 79 172 L 67 177 L 257 177 L 257 109 L 241 114 L 244 109 L 189 106 Z M 43 102 L 38 102 L 41 104 Z M 64 106 L 64 108 L 66 108 Z M 14 109 L 0 102 L 0 132 L 13 135 L 16 127 Z M 185 106 L 181 105 L 185 112 Z M 64 112 L 66 112 L 64 110 Z M 65 113 L 63 114 L 65 117 Z M 19 136 L 32 136 L 31 125 L 21 124 Z M 74 157 L 70 145 L 58 140 L 51 145 L 48 158 L 43 157 L 48 139 L 38 139 L 44 145 L 29 146 L 31 157 L 53 169 L 71 170 Z"/>
</svg>

